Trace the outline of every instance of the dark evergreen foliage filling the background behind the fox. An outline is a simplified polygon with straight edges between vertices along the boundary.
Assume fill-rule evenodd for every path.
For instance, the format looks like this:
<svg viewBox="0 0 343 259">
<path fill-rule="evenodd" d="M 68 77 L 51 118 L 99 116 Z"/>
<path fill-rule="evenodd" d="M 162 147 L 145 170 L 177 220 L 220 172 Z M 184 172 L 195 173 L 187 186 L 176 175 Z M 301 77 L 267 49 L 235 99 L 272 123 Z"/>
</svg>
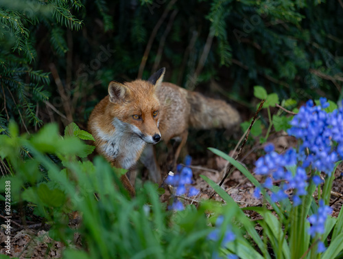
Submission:
<svg viewBox="0 0 343 259">
<path fill-rule="evenodd" d="M 85 125 L 108 81 L 137 78 L 145 58 L 143 78 L 164 66 L 167 80 L 207 92 L 215 79 L 217 93 L 249 108 L 254 85 L 281 99 L 342 99 L 340 1 L 173 3 L 1 1 L 2 117 L 21 131 L 50 120 Z"/>
</svg>

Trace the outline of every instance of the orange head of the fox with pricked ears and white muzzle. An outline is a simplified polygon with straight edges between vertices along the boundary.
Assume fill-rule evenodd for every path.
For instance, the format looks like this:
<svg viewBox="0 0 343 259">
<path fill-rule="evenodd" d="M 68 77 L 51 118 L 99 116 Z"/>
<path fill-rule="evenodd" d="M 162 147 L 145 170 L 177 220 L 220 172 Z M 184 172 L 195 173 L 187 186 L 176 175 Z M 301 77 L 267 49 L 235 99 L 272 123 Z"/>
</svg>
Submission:
<svg viewBox="0 0 343 259">
<path fill-rule="evenodd" d="M 110 114 L 116 131 L 138 136 L 144 142 L 156 144 L 161 140 L 158 129 L 160 103 L 156 90 L 161 87 L 165 68 L 159 69 L 145 80 L 132 82 L 112 81 L 108 85 Z"/>
</svg>

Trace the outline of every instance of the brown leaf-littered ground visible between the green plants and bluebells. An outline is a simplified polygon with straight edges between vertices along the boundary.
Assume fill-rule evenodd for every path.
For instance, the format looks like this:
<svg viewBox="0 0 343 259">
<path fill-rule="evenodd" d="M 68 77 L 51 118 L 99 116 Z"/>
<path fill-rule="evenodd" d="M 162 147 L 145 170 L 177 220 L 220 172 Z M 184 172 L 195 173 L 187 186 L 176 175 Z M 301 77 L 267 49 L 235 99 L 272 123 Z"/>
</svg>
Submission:
<svg viewBox="0 0 343 259">
<path fill-rule="evenodd" d="M 286 135 L 275 136 L 271 141 L 277 152 L 284 152 L 289 146 L 294 146 L 295 140 L 293 137 Z M 254 164 L 258 158 L 259 151 L 263 149 L 261 145 L 255 145 L 244 148 L 244 152 L 238 158 L 242 164 L 244 164 L 250 172 L 254 171 Z M 237 151 L 236 151 L 237 152 Z M 233 155 L 235 157 L 235 154 Z M 227 162 L 221 157 L 202 157 L 200 159 L 193 159 L 193 186 L 200 190 L 198 196 L 193 199 L 180 197 L 180 201 L 185 204 L 198 204 L 199 201 L 209 199 L 213 194 L 213 189 L 200 177 L 200 174 L 209 177 L 216 183 L 222 180 L 223 169 Z M 332 216 L 337 217 L 340 212 L 340 208 L 343 203 L 343 165 L 338 166 L 335 172 L 335 181 L 333 181 L 333 195 L 331 196 L 331 207 L 333 208 Z M 262 177 L 255 175 L 257 180 L 263 181 Z M 240 207 L 261 206 L 263 205 L 262 199 L 256 199 L 253 195 L 255 187 L 248 181 L 248 179 L 241 174 L 238 170 L 233 170 L 232 174 L 224 181 L 222 188 L 237 202 Z M 314 194 L 316 197 L 316 193 Z M 170 198 L 170 192 L 166 188 L 165 194 L 161 196 L 161 201 L 167 202 Z M 215 194 L 213 199 L 222 201 L 220 196 Z M 245 213 L 252 219 L 259 219 L 261 216 L 256 212 L 245 211 Z M 19 215 L 14 215 L 12 220 L 12 254 L 10 256 L 16 256 L 19 258 L 60 258 L 65 245 L 61 242 L 55 241 L 49 237 L 48 229 L 45 229 L 39 221 L 29 222 L 29 227 L 23 228 L 19 224 Z M 17 221 L 16 221 L 17 219 Z M 17 222 L 17 223 L 15 223 Z M 75 227 L 73 223 L 69 224 L 71 227 Z M 261 230 L 261 229 L 257 229 Z M 0 254 L 5 254 L 5 234 L 3 227 L 0 230 Z M 71 243 L 76 244 L 76 247 L 82 246 L 80 235 L 75 234 L 74 240 Z"/>
</svg>

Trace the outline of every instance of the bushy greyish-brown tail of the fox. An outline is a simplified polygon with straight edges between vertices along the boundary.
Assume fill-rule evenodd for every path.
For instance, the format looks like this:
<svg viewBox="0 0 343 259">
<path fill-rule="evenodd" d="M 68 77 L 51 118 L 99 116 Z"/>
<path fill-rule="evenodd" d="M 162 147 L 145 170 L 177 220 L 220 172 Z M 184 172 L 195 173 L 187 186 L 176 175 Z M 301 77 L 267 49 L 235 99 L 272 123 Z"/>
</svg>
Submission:
<svg viewBox="0 0 343 259">
<path fill-rule="evenodd" d="M 188 92 L 191 104 L 189 124 L 193 128 L 237 128 L 241 117 L 236 109 L 222 100 L 207 98 L 201 93 Z"/>
</svg>

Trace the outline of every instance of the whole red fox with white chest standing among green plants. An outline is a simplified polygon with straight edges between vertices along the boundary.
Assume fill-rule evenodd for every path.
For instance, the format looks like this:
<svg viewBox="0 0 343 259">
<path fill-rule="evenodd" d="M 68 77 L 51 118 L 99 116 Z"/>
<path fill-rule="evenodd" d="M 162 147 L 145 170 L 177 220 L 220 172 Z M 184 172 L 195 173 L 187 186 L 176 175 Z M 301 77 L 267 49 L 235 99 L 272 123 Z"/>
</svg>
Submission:
<svg viewBox="0 0 343 259">
<path fill-rule="evenodd" d="M 164 75 L 162 68 L 147 81 L 110 82 L 108 96 L 95 106 L 88 120 L 98 153 L 113 166 L 125 169 L 132 168 L 141 157 L 156 183 L 161 183 L 161 172 L 153 144 L 161 139 L 168 144 L 170 139 L 180 137 L 176 161 L 189 127 L 232 129 L 240 121 L 237 110 L 226 102 L 163 82 Z M 126 175 L 121 181 L 133 195 Z"/>
</svg>

